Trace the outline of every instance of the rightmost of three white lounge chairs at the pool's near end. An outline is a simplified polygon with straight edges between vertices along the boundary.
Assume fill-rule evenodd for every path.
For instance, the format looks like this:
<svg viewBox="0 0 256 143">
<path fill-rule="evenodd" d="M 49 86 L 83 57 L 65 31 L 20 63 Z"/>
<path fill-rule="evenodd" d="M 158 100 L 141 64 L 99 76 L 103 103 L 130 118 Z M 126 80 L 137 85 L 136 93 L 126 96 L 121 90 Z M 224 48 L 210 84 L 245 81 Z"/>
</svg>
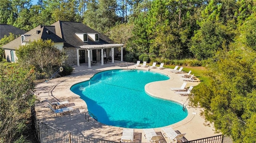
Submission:
<svg viewBox="0 0 256 143">
<path fill-rule="evenodd" d="M 170 143 L 170 139 L 172 141 L 172 143 L 174 143 L 174 141 L 182 141 L 183 142 L 183 137 L 184 135 L 186 135 L 186 133 L 176 133 L 176 131 L 174 131 L 172 129 L 172 127 L 165 127 L 165 128 L 162 128 L 162 133 L 164 135 L 164 137 L 167 137 L 168 140 L 169 140 L 169 143 Z"/>
</svg>

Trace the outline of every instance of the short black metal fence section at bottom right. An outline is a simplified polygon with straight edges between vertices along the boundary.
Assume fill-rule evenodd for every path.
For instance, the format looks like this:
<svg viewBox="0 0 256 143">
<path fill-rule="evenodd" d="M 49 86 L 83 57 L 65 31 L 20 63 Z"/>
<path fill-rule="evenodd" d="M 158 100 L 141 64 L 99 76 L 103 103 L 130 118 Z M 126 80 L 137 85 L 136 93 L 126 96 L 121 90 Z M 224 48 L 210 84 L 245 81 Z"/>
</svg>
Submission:
<svg viewBox="0 0 256 143">
<path fill-rule="evenodd" d="M 184 143 L 233 143 L 233 140 L 231 137 L 226 135 L 216 135 L 193 141 L 185 141 Z"/>
</svg>

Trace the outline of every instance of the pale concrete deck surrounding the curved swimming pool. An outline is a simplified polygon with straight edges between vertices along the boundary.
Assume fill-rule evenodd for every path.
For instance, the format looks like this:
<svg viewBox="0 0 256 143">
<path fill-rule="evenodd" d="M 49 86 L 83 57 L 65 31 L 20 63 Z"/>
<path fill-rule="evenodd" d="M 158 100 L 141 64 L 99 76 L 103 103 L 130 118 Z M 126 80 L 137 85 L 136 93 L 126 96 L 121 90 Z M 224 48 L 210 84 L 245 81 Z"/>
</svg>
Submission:
<svg viewBox="0 0 256 143">
<path fill-rule="evenodd" d="M 70 132 L 73 135 L 92 137 L 98 139 L 104 139 L 109 141 L 119 142 L 122 137 L 122 127 L 114 127 L 109 125 L 104 125 L 97 121 L 90 119 L 89 122 L 85 119 L 85 113 L 87 110 L 87 105 L 84 100 L 80 99 L 80 96 L 71 92 L 70 87 L 73 84 L 89 80 L 94 74 L 110 70 L 110 69 L 144 69 L 144 67 L 136 67 L 136 63 L 126 63 L 115 61 L 115 63 L 107 63 L 105 65 L 93 65 L 92 68 L 88 68 L 87 64 L 82 64 L 79 67 L 74 66 L 74 72 L 69 76 L 64 76 L 61 78 L 56 78 L 49 80 L 48 82 L 42 82 L 36 86 L 35 94 L 40 100 L 35 104 L 36 117 L 39 121 L 46 123 L 56 129 L 60 129 L 66 133 Z M 151 71 L 160 72 L 166 74 L 170 77 L 169 80 L 151 82 L 146 84 L 145 91 L 150 94 L 150 96 L 156 96 L 158 98 L 163 98 L 167 100 L 174 100 L 180 104 L 187 104 L 188 96 L 180 96 L 174 91 L 170 90 L 171 87 L 180 87 L 184 81 L 180 80 L 179 74 L 169 72 L 168 69 L 150 69 Z M 193 73 L 193 71 L 192 71 Z M 186 74 L 186 73 L 184 73 Z M 187 82 L 186 87 L 193 85 L 196 86 L 200 82 Z M 68 100 L 68 106 L 72 106 L 74 111 L 72 114 L 68 115 L 58 115 L 48 114 L 50 109 L 46 107 L 45 98 L 52 102 Z M 186 106 L 188 110 L 188 116 L 179 121 L 169 125 L 174 130 L 180 131 L 180 133 L 186 133 L 186 139 L 194 140 L 204 137 L 210 137 L 214 135 L 219 135 L 214 133 L 214 128 L 212 125 L 204 122 L 204 118 L 200 116 L 200 108 L 192 108 L 189 105 Z M 166 111 L 168 112 L 168 111 Z M 155 131 L 161 131 L 160 128 L 154 128 Z M 142 143 L 147 142 L 144 135 L 143 129 L 134 129 L 135 132 L 142 133 Z M 166 139 L 168 141 L 168 139 Z"/>
</svg>

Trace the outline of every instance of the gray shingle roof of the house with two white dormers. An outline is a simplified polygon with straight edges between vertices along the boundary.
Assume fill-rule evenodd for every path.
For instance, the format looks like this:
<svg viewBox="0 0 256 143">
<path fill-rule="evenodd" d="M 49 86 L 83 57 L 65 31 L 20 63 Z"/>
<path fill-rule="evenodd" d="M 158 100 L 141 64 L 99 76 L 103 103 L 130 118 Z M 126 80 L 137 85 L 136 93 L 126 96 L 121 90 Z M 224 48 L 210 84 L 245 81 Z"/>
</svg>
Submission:
<svg viewBox="0 0 256 143">
<path fill-rule="evenodd" d="M 94 41 L 88 36 L 88 42 L 82 41 L 76 33 L 97 33 L 99 34 L 99 41 Z M 66 47 L 78 47 L 83 45 L 102 45 L 112 44 L 113 42 L 105 35 L 95 31 L 94 29 L 82 24 L 81 22 L 64 22 L 58 21 L 50 26 L 38 27 L 24 33 L 24 42 L 32 42 L 38 39 L 51 39 L 54 43 L 62 42 Z M 21 37 L 14 39 L 10 43 L 2 46 L 5 49 L 16 49 L 21 45 Z"/>
</svg>

